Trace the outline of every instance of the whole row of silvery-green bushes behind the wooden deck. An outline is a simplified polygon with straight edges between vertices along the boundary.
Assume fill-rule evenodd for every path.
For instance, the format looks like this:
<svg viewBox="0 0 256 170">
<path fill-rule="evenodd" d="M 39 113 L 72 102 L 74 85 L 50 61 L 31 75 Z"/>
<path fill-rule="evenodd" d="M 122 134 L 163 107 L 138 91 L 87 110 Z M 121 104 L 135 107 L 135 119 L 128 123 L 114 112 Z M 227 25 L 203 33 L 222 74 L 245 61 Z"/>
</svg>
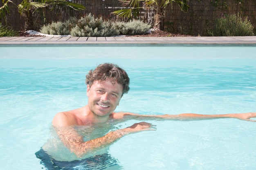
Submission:
<svg viewBox="0 0 256 170">
<path fill-rule="evenodd" d="M 88 14 L 80 19 L 71 18 L 66 22 L 52 22 L 44 25 L 41 33 L 51 35 L 71 35 L 79 37 L 100 37 L 114 35 L 141 35 L 147 33 L 150 25 L 139 20 L 110 22 Z"/>
</svg>

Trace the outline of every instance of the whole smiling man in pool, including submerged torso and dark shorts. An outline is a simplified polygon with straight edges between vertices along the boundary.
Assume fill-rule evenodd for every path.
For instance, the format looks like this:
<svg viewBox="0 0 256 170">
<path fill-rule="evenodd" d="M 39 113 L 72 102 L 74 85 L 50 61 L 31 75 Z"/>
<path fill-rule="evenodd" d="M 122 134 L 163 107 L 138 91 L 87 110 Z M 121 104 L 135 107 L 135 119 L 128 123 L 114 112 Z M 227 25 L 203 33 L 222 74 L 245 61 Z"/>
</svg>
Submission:
<svg viewBox="0 0 256 170">
<path fill-rule="evenodd" d="M 109 67 L 110 69 L 106 71 L 105 68 Z M 103 72 L 101 72 L 102 69 L 104 70 Z M 42 164 L 48 169 L 56 169 L 56 167 L 57 169 L 65 169 L 65 167 L 77 166 L 86 168 L 91 163 L 93 165 L 99 165 L 97 168 L 102 168 L 101 165 L 106 163 L 115 163 L 117 160 L 111 155 L 108 155 L 110 144 L 124 135 L 145 130 L 156 130 L 155 125 L 145 122 L 148 120 L 190 121 L 236 118 L 255 121 L 250 118 L 256 117 L 256 113 L 224 115 L 200 115 L 192 113 L 179 115 L 141 115 L 130 112 L 117 113 L 114 111 L 115 108 L 119 105 L 123 94 L 129 90 L 127 85 L 128 76 L 122 73 L 122 71 L 120 73 L 118 71 L 119 68 L 112 64 L 102 64 L 95 70 L 97 74 L 93 74 L 94 71 L 89 72 L 90 77 L 94 75 L 94 79 L 88 78 L 88 76 L 86 79 L 88 105 L 57 113 L 52 121 L 53 139 L 49 139 L 43 146 L 43 149 L 36 153 L 37 157 L 42 160 Z M 97 75 L 99 75 L 98 78 Z M 157 106 L 156 103 L 155 107 Z M 138 120 L 138 123 L 132 123 L 131 126 L 128 125 L 126 128 L 115 127 L 120 122 L 130 119 Z M 164 122 L 166 124 L 171 123 L 171 121 Z M 103 161 L 102 164 L 99 163 L 99 160 Z M 118 163 L 114 166 L 120 169 Z"/>
</svg>

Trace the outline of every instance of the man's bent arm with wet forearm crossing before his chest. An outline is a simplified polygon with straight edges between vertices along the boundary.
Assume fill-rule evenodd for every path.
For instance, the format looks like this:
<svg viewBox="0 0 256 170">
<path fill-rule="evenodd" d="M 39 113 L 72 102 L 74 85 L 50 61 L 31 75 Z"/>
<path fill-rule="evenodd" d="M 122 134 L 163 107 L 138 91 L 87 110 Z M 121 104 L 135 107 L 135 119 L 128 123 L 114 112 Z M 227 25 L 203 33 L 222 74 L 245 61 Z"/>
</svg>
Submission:
<svg viewBox="0 0 256 170">
<path fill-rule="evenodd" d="M 151 124 L 140 122 L 124 129 L 108 132 L 103 137 L 92 139 L 90 141 L 83 141 L 83 137 L 70 125 L 75 125 L 75 121 L 72 120 L 72 115 L 70 117 L 70 114 L 58 113 L 53 119 L 53 126 L 55 127 L 59 138 L 71 152 L 76 154 L 77 157 L 82 157 L 91 150 L 111 144 L 124 135 L 144 130 L 153 130 Z"/>
</svg>

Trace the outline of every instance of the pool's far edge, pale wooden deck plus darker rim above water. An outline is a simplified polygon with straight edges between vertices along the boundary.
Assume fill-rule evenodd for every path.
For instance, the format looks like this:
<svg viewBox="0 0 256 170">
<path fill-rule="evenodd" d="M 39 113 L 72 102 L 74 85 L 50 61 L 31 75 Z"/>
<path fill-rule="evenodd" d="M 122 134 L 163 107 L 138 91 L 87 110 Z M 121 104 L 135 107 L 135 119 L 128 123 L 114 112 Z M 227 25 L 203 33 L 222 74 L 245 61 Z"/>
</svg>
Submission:
<svg viewBox="0 0 256 170">
<path fill-rule="evenodd" d="M 256 46 L 241 37 L 0 37 L 0 46 Z"/>
</svg>

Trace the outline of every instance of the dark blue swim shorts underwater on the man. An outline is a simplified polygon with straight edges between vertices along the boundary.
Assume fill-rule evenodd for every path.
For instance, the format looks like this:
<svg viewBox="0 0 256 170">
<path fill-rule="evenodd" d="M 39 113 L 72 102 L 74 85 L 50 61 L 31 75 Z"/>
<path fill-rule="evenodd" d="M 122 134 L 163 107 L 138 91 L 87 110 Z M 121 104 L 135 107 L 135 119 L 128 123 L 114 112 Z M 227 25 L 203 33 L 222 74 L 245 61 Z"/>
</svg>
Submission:
<svg viewBox="0 0 256 170">
<path fill-rule="evenodd" d="M 111 157 L 111 155 L 104 153 L 89 157 L 82 160 L 75 161 L 56 161 L 51 158 L 43 149 L 35 153 L 40 163 L 47 168 L 47 170 L 121 170 L 118 161 Z"/>
</svg>

